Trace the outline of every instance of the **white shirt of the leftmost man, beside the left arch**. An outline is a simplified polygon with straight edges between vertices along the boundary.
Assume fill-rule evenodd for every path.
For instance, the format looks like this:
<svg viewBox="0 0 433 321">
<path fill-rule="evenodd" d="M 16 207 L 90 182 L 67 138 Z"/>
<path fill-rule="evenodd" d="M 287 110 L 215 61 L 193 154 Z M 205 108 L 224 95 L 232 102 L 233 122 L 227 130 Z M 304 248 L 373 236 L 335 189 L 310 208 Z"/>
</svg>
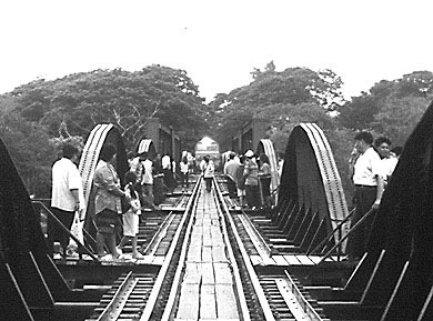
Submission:
<svg viewBox="0 0 433 321">
<path fill-rule="evenodd" d="M 52 194 L 51 207 L 63 211 L 73 212 L 75 199 L 71 190 L 78 190 L 80 197 L 80 208 L 83 208 L 83 188 L 80 172 L 77 165 L 67 158 L 58 160 L 52 165 Z"/>
</svg>

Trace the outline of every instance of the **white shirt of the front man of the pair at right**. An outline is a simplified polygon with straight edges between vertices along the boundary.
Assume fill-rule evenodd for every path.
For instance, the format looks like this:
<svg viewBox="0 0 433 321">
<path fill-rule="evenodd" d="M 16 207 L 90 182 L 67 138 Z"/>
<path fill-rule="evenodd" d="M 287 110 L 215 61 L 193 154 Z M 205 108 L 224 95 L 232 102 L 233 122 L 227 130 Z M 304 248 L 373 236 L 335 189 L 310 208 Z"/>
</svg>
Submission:
<svg viewBox="0 0 433 321">
<path fill-rule="evenodd" d="M 354 164 L 353 182 L 356 185 L 377 185 L 376 175 L 382 175 L 382 162 L 377 152 L 371 147 L 360 154 Z"/>
</svg>

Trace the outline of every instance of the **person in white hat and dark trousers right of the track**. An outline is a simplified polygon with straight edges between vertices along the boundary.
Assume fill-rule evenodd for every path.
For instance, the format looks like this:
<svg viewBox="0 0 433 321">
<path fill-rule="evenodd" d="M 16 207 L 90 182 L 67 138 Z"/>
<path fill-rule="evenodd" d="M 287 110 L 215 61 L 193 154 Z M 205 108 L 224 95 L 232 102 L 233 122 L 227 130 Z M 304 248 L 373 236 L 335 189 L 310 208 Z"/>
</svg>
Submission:
<svg viewBox="0 0 433 321">
<path fill-rule="evenodd" d="M 246 204 L 250 209 L 255 210 L 260 207 L 259 165 L 252 150 L 245 152 L 245 158 L 243 175 L 245 177 Z"/>
</svg>

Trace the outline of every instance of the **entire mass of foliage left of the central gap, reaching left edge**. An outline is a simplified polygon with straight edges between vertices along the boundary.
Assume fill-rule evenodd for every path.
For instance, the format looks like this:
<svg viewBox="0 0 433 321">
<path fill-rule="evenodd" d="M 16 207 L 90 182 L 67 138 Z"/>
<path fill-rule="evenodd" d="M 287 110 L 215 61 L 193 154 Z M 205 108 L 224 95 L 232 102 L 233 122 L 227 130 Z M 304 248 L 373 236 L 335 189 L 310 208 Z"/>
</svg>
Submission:
<svg viewBox="0 0 433 321">
<path fill-rule="evenodd" d="M 203 101 L 183 70 L 151 66 L 74 73 L 2 96 L 0 136 L 29 191 L 49 197 L 50 168 L 64 141 L 82 147 L 97 123 L 111 122 L 133 150 L 148 120 L 159 118 L 191 150 L 207 129 Z"/>
</svg>

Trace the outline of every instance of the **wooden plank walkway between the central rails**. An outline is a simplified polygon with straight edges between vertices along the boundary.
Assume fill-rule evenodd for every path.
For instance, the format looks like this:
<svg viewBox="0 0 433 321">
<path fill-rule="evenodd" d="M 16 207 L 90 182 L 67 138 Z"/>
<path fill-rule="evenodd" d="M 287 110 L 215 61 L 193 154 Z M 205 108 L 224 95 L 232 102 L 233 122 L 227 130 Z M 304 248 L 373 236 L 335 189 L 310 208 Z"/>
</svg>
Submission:
<svg viewBox="0 0 433 321">
<path fill-rule="evenodd" d="M 204 185 L 194 213 L 175 320 L 239 320 L 216 204 Z"/>
</svg>

